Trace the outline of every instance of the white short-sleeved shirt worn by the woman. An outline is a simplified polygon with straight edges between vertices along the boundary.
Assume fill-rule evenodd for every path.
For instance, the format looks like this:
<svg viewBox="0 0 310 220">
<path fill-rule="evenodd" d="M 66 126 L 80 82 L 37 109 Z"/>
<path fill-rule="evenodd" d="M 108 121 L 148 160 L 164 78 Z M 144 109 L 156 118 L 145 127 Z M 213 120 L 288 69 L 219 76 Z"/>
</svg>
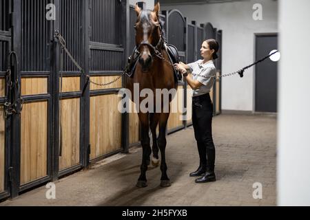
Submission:
<svg viewBox="0 0 310 220">
<path fill-rule="evenodd" d="M 212 76 L 216 76 L 216 67 L 213 61 L 211 60 L 203 64 L 203 60 L 199 60 L 187 65 L 192 71 L 193 80 L 198 80 L 198 82 L 203 84 L 198 89 L 193 89 L 193 96 L 209 93 L 215 82 L 215 78 Z"/>
</svg>

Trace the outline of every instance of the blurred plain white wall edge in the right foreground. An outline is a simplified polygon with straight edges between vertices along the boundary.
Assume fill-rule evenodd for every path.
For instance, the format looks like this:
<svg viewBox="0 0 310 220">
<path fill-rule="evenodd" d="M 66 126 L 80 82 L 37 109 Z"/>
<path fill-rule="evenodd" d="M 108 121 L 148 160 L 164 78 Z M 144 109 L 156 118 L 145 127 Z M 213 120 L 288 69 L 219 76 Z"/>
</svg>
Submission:
<svg viewBox="0 0 310 220">
<path fill-rule="evenodd" d="M 310 1 L 279 6 L 278 205 L 310 206 Z"/>
</svg>

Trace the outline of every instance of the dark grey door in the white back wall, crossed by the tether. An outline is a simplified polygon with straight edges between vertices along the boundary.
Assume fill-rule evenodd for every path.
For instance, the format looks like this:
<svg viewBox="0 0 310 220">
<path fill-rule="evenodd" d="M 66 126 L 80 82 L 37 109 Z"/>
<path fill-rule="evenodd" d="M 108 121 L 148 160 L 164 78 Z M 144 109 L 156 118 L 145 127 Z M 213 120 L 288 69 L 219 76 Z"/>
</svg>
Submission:
<svg viewBox="0 0 310 220">
<path fill-rule="evenodd" d="M 256 60 L 278 50 L 278 35 L 256 35 Z M 267 58 L 255 69 L 255 111 L 277 112 L 278 62 Z"/>
</svg>

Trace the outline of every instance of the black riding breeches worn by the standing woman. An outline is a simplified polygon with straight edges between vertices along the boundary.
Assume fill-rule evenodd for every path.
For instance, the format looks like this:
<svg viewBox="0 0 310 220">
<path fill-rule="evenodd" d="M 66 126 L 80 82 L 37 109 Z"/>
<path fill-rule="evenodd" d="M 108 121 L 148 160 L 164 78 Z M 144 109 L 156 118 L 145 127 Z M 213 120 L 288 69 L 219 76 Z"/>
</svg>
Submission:
<svg viewBox="0 0 310 220">
<path fill-rule="evenodd" d="M 192 113 L 200 165 L 207 165 L 210 171 L 214 171 L 215 148 L 212 139 L 213 103 L 209 94 L 193 97 Z"/>
</svg>

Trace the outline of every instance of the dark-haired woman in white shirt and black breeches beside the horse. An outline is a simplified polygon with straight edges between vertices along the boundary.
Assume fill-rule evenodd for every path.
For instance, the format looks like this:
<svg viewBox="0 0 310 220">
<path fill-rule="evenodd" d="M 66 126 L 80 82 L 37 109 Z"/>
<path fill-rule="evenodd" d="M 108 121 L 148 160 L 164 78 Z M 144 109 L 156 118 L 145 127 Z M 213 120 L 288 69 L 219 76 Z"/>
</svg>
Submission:
<svg viewBox="0 0 310 220">
<path fill-rule="evenodd" d="M 209 91 L 214 85 L 216 67 L 212 60 L 218 58 L 218 42 L 214 39 L 203 41 L 200 49 L 202 60 L 194 63 L 176 63 L 174 66 L 182 72 L 187 83 L 193 89 L 192 97 L 192 122 L 195 139 L 197 141 L 200 164 L 196 171 L 190 173 L 190 177 L 202 177 L 195 180 L 196 183 L 216 181 L 214 173 L 215 148 L 212 139 L 212 115 L 213 103 Z M 192 73 L 192 76 L 187 74 Z"/>
</svg>

